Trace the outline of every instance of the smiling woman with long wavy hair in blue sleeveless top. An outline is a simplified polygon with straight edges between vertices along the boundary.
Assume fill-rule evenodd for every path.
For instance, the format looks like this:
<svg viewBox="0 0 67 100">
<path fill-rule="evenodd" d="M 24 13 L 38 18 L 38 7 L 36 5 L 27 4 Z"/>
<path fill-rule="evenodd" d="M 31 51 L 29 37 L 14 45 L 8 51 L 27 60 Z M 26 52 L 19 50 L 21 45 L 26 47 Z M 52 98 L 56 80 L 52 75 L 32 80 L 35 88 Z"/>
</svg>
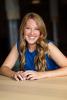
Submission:
<svg viewBox="0 0 67 100">
<path fill-rule="evenodd" d="M 16 72 L 12 68 L 17 59 L 20 65 Z M 52 42 L 47 41 L 44 21 L 32 12 L 23 18 L 19 41 L 13 46 L 0 70 L 2 75 L 17 81 L 63 76 L 67 75 L 67 59 Z"/>
</svg>

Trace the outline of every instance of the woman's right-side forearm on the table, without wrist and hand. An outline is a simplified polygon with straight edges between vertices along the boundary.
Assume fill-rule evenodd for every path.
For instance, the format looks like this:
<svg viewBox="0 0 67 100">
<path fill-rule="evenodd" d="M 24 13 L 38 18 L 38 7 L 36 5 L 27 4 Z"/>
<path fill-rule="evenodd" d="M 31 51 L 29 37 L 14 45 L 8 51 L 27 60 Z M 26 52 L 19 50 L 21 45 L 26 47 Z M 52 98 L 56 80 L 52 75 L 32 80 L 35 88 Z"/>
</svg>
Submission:
<svg viewBox="0 0 67 100">
<path fill-rule="evenodd" d="M 60 68 L 53 71 L 46 71 L 44 73 L 44 77 L 60 77 L 60 76 L 66 76 L 67 75 L 67 68 Z"/>
</svg>

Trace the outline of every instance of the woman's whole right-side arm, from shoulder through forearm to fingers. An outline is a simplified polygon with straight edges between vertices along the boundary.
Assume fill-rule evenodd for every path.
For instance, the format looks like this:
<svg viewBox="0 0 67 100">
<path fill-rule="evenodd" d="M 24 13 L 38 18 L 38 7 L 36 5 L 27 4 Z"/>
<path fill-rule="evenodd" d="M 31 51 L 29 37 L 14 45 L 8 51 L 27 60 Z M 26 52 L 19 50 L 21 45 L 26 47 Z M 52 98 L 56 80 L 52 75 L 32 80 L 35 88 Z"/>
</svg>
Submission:
<svg viewBox="0 0 67 100">
<path fill-rule="evenodd" d="M 53 44 L 48 44 L 49 56 L 60 66 L 57 70 L 36 72 L 36 71 L 25 71 L 24 76 L 26 79 L 34 80 L 40 78 L 60 77 L 67 76 L 67 58 L 63 53 Z"/>
</svg>

